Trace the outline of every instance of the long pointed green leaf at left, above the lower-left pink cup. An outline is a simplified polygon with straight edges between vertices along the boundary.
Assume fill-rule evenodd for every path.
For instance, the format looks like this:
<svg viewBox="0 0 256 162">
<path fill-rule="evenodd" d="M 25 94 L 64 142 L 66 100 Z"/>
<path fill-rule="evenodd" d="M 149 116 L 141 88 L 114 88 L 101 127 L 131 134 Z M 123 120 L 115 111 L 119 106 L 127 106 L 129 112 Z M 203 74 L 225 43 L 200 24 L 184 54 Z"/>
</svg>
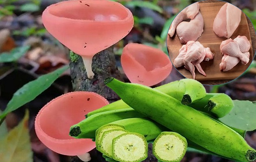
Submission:
<svg viewBox="0 0 256 162">
<path fill-rule="evenodd" d="M 63 66 L 53 72 L 50 72 L 46 75 L 42 75 L 23 85 L 19 90 L 15 92 L 13 98 L 7 104 L 6 109 L 0 115 L 0 119 L 5 117 L 11 111 L 18 109 L 24 104 L 34 100 L 39 94 L 46 90 L 52 83 L 65 71 L 69 66 Z"/>
</svg>

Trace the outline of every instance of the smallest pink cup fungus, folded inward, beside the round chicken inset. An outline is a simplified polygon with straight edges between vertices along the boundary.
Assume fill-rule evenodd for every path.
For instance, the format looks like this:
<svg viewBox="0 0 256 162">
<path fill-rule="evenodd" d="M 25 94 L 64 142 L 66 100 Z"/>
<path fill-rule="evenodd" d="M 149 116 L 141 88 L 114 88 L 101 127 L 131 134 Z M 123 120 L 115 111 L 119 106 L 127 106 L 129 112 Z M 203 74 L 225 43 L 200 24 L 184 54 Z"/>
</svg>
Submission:
<svg viewBox="0 0 256 162">
<path fill-rule="evenodd" d="M 163 81 L 172 69 L 171 60 L 163 51 L 137 43 L 124 47 L 121 66 L 130 82 L 147 86 Z"/>
</svg>

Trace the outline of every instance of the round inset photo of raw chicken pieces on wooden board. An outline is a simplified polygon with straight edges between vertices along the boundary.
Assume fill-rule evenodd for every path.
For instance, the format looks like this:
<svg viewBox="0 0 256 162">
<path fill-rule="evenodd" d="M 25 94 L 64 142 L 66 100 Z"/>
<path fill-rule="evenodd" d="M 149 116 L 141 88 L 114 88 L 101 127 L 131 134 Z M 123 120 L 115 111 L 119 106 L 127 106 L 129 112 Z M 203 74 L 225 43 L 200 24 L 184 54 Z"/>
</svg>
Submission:
<svg viewBox="0 0 256 162">
<path fill-rule="evenodd" d="M 184 77 L 217 85 L 245 72 L 255 55 L 255 38 L 252 22 L 239 8 L 204 0 L 187 6 L 174 18 L 167 49 Z"/>
</svg>

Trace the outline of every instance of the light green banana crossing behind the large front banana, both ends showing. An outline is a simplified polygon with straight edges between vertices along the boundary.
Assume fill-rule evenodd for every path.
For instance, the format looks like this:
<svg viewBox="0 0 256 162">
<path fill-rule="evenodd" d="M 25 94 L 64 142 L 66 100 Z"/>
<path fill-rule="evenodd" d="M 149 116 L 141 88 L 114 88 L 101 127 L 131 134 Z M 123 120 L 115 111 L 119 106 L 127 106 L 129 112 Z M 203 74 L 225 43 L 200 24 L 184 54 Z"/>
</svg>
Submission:
<svg viewBox="0 0 256 162">
<path fill-rule="evenodd" d="M 197 86 L 194 87 L 190 85 L 197 85 Z M 165 94 L 168 94 L 184 103 L 195 102 L 197 100 L 200 100 L 204 96 L 206 96 L 206 90 L 204 86 L 200 82 L 194 79 L 181 79 L 179 81 L 173 81 L 165 85 L 155 87 L 154 89 L 161 91 Z M 101 113 L 105 111 L 126 109 L 126 108 L 129 108 L 129 106 L 123 100 L 118 100 L 100 109 L 89 112 L 87 115 L 85 115 L 85 117 L 87 118 L 96 113 Z"/>
</svg>

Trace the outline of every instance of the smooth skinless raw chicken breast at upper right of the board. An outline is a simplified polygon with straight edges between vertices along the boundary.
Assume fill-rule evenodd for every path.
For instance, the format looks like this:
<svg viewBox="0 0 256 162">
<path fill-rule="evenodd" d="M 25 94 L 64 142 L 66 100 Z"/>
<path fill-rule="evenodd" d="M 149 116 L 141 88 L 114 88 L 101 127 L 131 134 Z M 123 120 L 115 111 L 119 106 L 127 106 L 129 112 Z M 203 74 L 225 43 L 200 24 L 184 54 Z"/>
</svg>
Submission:
<svg viewBox="0 0 256 162">
<path fill-rule="evenodd" d="M 242 11 L 236 6 L 224 4 L 213 22 L 213 31 L 219 37 L 230 38 L 241 21 Z"/>
</svg>

